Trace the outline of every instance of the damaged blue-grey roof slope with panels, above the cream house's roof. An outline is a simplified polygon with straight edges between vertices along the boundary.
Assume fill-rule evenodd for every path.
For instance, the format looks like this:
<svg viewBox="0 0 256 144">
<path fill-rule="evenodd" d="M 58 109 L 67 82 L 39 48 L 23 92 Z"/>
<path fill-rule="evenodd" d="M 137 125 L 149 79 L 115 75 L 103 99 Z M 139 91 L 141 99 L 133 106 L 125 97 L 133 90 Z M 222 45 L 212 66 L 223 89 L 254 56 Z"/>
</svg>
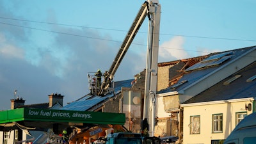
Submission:
<svg viewBox="0 0 256 144">
<path fill-rule="evenodd" d="M 164 90 L 160 90 L 158 93 L 179 92 L 210 72 L 224 66 L 228 61 L 235 60 L 252 49 L 255 49 L 255 46 L 209 54 L 204 60 L 184 70 L 184 76 L 182 76 L 176 84 Z"/>
</svg>

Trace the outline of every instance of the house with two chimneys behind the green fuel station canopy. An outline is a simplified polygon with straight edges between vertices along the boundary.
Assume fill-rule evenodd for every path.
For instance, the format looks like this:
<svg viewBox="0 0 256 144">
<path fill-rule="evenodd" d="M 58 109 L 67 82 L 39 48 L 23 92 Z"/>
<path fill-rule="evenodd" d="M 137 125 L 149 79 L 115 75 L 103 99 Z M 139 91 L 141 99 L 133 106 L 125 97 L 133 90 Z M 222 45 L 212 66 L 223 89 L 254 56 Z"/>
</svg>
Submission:
<svg viewBox="0 0 256 144">
<path fill-rule="evenodd" d="M 25 105 L 22 97 L 15 97 L 11 99 L 11 109 L 17 108 L 40 108 L 40 109 L 60 109 L 63 106 L 63 95 L 58 93 L 51 93 L 48 95 L 49 102 L 39 104 Z M 18 141 L 28 140 L 28 142 L 35 140 L 42 132 L 28 131 L 26 127 L 22 125 L 7 125 L 0 124 L 0 143 L 17 143 Z M 30 141 L 29 141 L 30 140 Z"/>
</svg>

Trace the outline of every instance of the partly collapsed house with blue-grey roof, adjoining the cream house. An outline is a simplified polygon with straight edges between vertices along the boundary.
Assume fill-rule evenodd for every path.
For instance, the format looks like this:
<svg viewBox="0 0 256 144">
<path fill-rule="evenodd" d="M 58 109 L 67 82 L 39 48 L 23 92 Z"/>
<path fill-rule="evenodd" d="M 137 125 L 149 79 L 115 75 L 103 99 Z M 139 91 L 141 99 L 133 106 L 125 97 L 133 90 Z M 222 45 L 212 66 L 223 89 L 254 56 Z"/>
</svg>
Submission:
<svg viewBox="0 0 256 144">
<path fill-rule="evenodd" d="M 157 119 L 171 116 L 170 129 L 179 136 L 179 141 L 182 141 L 184 113 L 180 104 L 247 67 L 255 61 L 255 55 L 256 47 L 254 46 L 214 52 L 204 60 L 184 69 L 184 73 L 175 80 L 177 83 L 157 93 Z"/>
</svg>

